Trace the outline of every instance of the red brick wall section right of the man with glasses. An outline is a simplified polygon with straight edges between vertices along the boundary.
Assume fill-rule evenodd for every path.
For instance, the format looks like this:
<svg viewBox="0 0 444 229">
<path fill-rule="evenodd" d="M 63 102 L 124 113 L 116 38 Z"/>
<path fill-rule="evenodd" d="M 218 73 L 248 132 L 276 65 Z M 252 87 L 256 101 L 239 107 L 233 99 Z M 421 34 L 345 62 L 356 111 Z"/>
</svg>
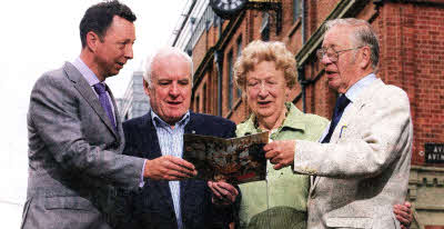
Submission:
<svg viewBox="0 0 444 229">
<path fill-rule="evenodd" d="M 414 165 L 424 163 L 425 142 L 444 142 L 443 21 L 443 8 L 386 3 L 373 23 L 381 41 L 379 76 L 410 98 Z"/>
</svg>

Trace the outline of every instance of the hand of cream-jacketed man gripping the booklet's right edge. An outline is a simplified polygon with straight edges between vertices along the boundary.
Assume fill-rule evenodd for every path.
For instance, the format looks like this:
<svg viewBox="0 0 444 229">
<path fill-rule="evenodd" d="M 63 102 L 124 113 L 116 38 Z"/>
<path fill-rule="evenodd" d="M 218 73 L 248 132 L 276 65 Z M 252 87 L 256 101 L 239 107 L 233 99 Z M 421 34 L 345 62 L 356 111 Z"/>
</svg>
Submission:
<svg viewBox="0 0 444 229">
<path fill-rule="evenodd" d="M 275 165 L 273 168 L 279 170 L 284 167 L 293 165 L 295 142 L 287 141 L 273 141 L 264 146 L 265 158 Z"/>
</svg>

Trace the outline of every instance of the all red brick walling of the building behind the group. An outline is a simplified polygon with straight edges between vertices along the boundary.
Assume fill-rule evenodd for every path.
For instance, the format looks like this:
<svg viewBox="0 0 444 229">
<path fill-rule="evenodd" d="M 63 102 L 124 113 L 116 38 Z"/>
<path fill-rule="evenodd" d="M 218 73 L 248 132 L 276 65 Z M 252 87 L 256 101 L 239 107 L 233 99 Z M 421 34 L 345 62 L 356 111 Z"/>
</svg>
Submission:
<svg viewBox="0 0 444 229">
<path fill-rule="evenodd" d="M 293 1 L 282 0 L 282 31 L 275 36 L 275 18 L 272 18 L 270 38 L 285 42 L 293 53 L 297 53 L 302 48 L 302 27 L 297 24 L 299 20 L 293 22 Z M 305 40 L 309 40 L 339 2 L 340 0 L 305 0 Z M 369 1 L 363 9 L 356 12 L 356 18 L 364 20 L 373 18 L 372 27 L 379 34 L 381 43 L 381 66 L 377 76 L 386 83 L 401 87 L 408 94 L 414 123 L 412 161 L 414 165 L 423 165 L 424 158 L 421 152 L 424 151 L 424 143 L 444 142 L 444 8 L 424 3 L 384 1 L 377 11 L 373 1 Z M 236 98 L 233 100 L 233 110 L 226 109 L 226 54 L 233 50 L 235 56 L 239 36 L 242 36 L 242 48 L 252 40 L 260 39 L 261 22 L 261 11 L 248 10 L 242 24 L 224 49 L 222 114 L 236 123 L 244 120 L 250 111 L 244 101 L 236 106 Z M 224 27 L 228 21 L 224 22 Z M 218 41 L 218 28 L 212 28 L 208 33 L 209 39 L 203 42 L 202 36 L 193 51 L 196 67 L 206 50 Z M 215 64 L 209 69 L 211 71 L 205 73 L 210 97 L 208 101 L 211 107 L 210 113 L 216 114 L 218 71 Z M 304 76 L 307 80 L 313 80 L 321 70 L 322 66 L 312 59 L 305 64 Z M 202 80 L 202 82 L 204 81 Z M 235 94 L 235 89 L 233 91 Z M 290 100 L 293 100 L 300 92 L 301 87 L 297 84 Z M 331 117 L 336 93 L 329 89 L 324 77 L 321 76 L 314 83 L 309 84 L 305 94 L 306 112 Z M 302 99 L 297 100 L 296 107 L 302 109 Z"/>
</svg>

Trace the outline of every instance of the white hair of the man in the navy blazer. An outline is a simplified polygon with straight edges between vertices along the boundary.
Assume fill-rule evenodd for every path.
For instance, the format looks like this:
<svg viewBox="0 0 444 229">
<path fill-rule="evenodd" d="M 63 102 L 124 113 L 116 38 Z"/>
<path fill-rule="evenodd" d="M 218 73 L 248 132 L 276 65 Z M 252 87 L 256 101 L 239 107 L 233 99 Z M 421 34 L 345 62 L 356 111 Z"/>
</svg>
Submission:
<svg viewBox="0 0 444 229">
<path fill-rule="evenodd" d="M 171 56 L 175 56 L 175 57 L 181 57 L 183 58 L 189 64 L 190 64 L 190 80 L 191 83 L 193 83 L 192 80 L 192 76 L 193 76 L 193 60 L 191 59 L 190 56 L 186 54 L 186 52 L 182 51 L 181 49 L 176 48 L 176 47 L 164 47 L 164 48 L 160 48 L 158 50 L 155 50 L 152 54 L 147 57 L 147 61 L 145 61 L 145 71 L 143 73 L 143 80 L 147 81 L 149 88 L 152 88 L 152 64 L 154 62 L 155 59 L 158 59 L 159 57 L 171 57 Z"/>
</svg>

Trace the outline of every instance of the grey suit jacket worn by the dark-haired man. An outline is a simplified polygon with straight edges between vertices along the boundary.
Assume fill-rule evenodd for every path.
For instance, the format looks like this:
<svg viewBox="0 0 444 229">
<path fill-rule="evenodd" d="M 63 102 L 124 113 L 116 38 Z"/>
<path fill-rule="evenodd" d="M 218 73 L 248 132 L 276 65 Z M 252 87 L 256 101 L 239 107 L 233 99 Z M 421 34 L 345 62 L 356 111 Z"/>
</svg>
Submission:
<svg viewBox="0 0 444 229">
<path fill-rule="evenodd" d="M 124 137 L 119 117 L 117 126 L 118 131 L 71 63 L 36 82 L 28 112 L 22 228 L 110 228 L 107 212 L 113 187 L 138 188 L 144 162 L 121 155 Z"/>
</svg>

